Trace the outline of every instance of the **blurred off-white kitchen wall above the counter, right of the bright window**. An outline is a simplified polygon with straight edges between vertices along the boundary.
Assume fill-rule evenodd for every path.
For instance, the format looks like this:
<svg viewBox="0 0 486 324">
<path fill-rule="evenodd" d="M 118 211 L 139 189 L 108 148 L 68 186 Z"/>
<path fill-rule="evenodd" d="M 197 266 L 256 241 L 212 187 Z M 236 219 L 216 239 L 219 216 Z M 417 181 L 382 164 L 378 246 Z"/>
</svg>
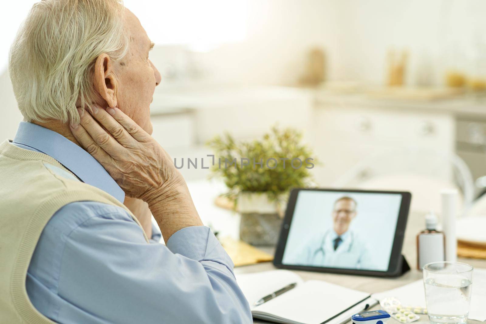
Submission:
<svg viewBox="0 0 486 324">
<path fill-rule="evenodd" d="M 485 12 L 483 0 L 249 0 L 247 39 L 192 58 L 211 83 L 295 85 L 317 46 L 328 80 L 382 85 L 387 52 L 407 49 L 407 84 L 441 85 L 451 66 L 486 75 Z"/>
</svg>

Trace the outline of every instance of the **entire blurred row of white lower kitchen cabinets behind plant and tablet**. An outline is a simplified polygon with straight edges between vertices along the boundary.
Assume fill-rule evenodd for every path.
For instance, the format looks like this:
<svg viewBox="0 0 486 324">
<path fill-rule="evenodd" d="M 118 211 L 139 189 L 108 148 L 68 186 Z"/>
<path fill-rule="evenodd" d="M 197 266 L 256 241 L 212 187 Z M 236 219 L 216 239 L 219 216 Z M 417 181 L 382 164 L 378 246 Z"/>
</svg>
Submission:
<svg viewBox="0 0 486 324">
<path fill-rule="evenodd" d="M 457 120 L 486 120 L 485 104 L 467 98 L 399 101 L 275 86 L 156 93 L 151 113 L 154 137 L 180 158 L 210 154 L 204 144 L 225 131 L 252 139 L 275 124 L 295 127 L 321 162 L 312 174 L 322 187 L 343 182 L 360 165 L 358 182 L 401 172 L 453 183 Z M 181 172 L 188 179 L 209 174 Z"/>
</svg>

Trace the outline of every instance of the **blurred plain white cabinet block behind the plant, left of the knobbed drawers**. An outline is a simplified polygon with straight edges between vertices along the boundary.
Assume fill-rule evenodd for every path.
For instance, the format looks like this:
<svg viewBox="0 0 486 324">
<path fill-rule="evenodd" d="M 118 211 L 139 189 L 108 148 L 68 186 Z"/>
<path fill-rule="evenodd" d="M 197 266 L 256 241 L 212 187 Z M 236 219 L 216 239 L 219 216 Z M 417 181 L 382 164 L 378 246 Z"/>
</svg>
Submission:
<svg viewBox="0 0 486 324">
<path fill-rule="evenodd" d="M 308 139 L 313 110 L 309 91 L 288 87 L 207 89 L 156 93 L 151 105 L 153 137 L 180 165 L 186 180 L 208 177 L 201 159 L 208 166 L 211 150 L 205 143 L 228 132 L 236 139 L 254 139 L 271 127 L 292 126 Z M 199 168 L 188 168 L 187 159 L 199 161 Z"/>
</svg>

